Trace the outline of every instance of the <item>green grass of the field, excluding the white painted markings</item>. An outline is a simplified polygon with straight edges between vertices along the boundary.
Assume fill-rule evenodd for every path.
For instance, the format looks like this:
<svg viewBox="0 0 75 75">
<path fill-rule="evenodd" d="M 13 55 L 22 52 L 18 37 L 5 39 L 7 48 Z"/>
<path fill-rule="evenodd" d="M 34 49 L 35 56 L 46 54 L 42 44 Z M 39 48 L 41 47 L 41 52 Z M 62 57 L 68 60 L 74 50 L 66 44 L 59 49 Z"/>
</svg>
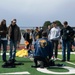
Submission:
<svg viewBox="0 0 75 75">
<path fill-rule="evenodd" d="M 7 59 L 8 59 L 8 57 L 9 56 L 7 56 Z M 58 55 L 58 58 L 61 59 L 62 56 Z M 26 57 L 16 57 L 16 60 L 17 60 L 16 63 L 21 62 L 23 64 L 22 65 L 16 65 L 15 68 L 2 68 L 2 65 L 4 63 L 2 61 L 1 56 L 0 56 L 0 59 L 1 59 L 0 60 L 0 73 L 28 71 L 30 73 L 30 75 L 52 75 L 52 74 L 41 73 L 41 72 L 37 71 L 36 68 L 31 68 L 31 65 L 33 65 L 34 63 L 33 63 L 33 61 L 31 61 L 29 58 L 26 58 Z M 74 54 L 71 54 L 71 62 L 75 64 L 75 55 Z M 75 68 L 75 65 L 69 64 L 67 62 L 61 62 L 60 60 L 56 60 L 55 63 L 60 63 L 60 64 L 66 65 L 66 66 Z M 53 72 L 68 72 L 67 69 L 60 68 L 60 67 L 58 67 L 58 68 L 57 67 L 54 67 L 54 68 L 49 67 L 47 69 L 50 70 L 50 71 L 53 71 Z M 53 74 L 53 75 L 56 75 L 56 74 Z M 72 75 L 72 74 L 70 74 L 70 75 Z M 75 75 L 75 74 L 73 74 L 73 75 Z"/>
</svg>

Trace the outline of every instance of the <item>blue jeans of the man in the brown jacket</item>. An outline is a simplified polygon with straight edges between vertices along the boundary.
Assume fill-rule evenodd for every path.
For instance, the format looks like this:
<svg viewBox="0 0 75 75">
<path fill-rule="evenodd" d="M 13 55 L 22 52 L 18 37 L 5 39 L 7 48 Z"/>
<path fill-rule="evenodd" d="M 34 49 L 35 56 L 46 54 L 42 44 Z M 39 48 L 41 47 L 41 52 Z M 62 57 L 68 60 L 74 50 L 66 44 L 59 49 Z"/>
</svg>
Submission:
<svg viewBox="0 0 75 75">
<path fill-rule="evenodd" d="M 16 48 L 17 48 L 17 41 L 10 40 L 10 57 L 9 57 L 9 60 L 15 59 Z"/>
</svg>

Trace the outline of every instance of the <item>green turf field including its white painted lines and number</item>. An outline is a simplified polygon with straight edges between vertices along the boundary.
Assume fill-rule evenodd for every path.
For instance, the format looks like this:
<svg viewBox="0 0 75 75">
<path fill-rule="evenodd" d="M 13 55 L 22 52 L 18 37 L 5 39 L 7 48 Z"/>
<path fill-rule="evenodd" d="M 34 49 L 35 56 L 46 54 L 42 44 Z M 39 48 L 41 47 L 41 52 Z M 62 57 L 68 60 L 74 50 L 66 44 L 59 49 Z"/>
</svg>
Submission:
<svg viewBox="0 0 75 75">
<path fill-rule="evenodd" d="M 61 59 L 61 54 L 58 55 L 58 58 Z M 16 63 L 20 62 L 22 64 L 16 65 L 15 68 L 2 68 L 3 61 L 1 56 L 0 59 L 0 75 L 75 75 L 75 54 L 71 54 L 70 62 L 61 62 L 59 59 L 55 61 L 55 63 L 64 64 L 65 66 L 63 67 L 32 68 L 31 65 L 34 63 L 30 58 L 16 57 Z"/>
</svg>

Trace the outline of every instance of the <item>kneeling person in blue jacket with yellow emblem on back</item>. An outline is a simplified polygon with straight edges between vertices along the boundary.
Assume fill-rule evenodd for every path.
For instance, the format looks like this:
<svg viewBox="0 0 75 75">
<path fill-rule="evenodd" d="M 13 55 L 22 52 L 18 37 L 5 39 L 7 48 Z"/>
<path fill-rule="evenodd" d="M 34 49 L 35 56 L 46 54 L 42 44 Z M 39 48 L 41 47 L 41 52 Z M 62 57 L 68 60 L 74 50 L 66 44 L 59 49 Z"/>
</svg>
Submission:
<svg viewBox="0 0 75 75">
<path fill-rule="evenodd" d="M 37 67 L 38 66 L 38 61 L 41 61 L 42 63 L 40 64 L 40 67 L 48 66 L 49 59 L 51 59 L 53 55 L 53 47 L 52 43 L 48 41 L 47 38 L 47 32 L 43 31 L 42 32 L 42 38 L 36 40 L 34 44 L 34 63 L 35 66 L 32 67 Z"/>
</svg>

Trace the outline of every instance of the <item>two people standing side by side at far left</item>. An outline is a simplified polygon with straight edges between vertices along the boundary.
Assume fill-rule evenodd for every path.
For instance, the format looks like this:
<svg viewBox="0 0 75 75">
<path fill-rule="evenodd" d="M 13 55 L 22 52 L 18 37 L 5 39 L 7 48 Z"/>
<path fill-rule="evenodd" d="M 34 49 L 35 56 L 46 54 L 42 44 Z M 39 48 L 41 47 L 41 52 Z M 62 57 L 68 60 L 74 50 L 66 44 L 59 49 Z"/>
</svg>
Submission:
<svg viewBox="0 0 75 75">
<path fill-rule="evenodd" d="M 21 40 L 20 28 L 18 27 L 16 22 L 17 20 L 13 19 L 8 27 L 5 19 L 3 19 L 0 23 L 0 50 L 3 49 L 2 54 L 3 62 L 15 61 L 17 44 L 20 43 Z M 9 43 L 10 52 L 9 52 L 9 59 L 7 60 L 6 51 L 8 41 L 10 42 Z"/>
</svg>

